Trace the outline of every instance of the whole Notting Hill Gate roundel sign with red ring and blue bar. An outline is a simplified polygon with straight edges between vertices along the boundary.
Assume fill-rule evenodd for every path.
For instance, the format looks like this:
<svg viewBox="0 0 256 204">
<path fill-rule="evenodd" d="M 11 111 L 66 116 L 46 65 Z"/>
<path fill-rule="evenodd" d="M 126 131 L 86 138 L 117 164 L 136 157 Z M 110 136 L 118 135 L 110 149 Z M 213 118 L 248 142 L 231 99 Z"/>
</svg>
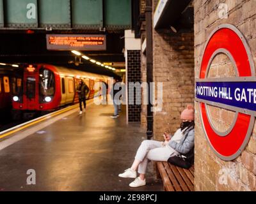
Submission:
<svg viewBox="0 0 256 204">
<path fill-rule="evenodd" d="M 236 77 L 210 78 L 214 57 L 225 54 L 236 69 Z M 205 136 L 214 153 L 225 161 L 236 159 L 246 147 L 256 117 L 255 66 L 243 34 L 230 24 L 217 27 L 207 41 L 196 80 L 195 98 L 200 105 L 200 117 Z M 236 112 L 225 132 L 212 124 L 209 107 L 217 106 Z"/>
</svg>

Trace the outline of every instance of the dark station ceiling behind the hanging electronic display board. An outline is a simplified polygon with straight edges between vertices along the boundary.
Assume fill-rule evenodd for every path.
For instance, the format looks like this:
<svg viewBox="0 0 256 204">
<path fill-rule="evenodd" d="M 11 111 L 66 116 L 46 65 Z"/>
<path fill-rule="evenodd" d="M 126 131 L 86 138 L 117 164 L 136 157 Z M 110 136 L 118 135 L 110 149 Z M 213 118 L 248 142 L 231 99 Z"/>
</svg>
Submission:
<svg viewBox="0 0 256 204">
<path fill-rule="evenodd" d="M 59 31 L 55 33 L 70 33 Z M 115 75 L 112 70 L 99 66 L 90 61 L 79 59 L 70 51 L 47 50 L 47 32 L 42 31 L 15 31 L 0 33 L 0 63 L 19 64 L 19 63 L 47 63 L 69 68 L 83 69 L 93 73 L 103 75 Z M 72 33 L 74 34 L 74 33 Z M 106 33 L 105 33 L 106 34 Z M 120 68 L 125 62 L 124 58 L 124 33 L 106 34 L 106 50 L 103 51 L 79 51 L 81 54 L 99 62 L 115 62 Z"/>
</svg>

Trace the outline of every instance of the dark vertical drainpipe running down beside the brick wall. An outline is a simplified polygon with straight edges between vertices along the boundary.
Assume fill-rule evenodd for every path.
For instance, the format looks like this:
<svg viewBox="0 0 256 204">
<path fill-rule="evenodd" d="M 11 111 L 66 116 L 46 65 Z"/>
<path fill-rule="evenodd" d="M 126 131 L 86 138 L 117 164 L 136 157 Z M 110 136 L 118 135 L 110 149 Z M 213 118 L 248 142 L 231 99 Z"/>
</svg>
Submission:
<svg viewBox="0 0 256 204">
<path fill-rule="evenodd" d="M 148 105 L 147 105 L 147 138 L 150 140 L 153 136 L 153 112 L 152 109 L 152 88 L 150 82 L 153 82 L 153 37 L 152 37 L 152 0 L 146 1 L 146 36 L 147 36 L 147 84 L 148 84 Z"/>
</svg>

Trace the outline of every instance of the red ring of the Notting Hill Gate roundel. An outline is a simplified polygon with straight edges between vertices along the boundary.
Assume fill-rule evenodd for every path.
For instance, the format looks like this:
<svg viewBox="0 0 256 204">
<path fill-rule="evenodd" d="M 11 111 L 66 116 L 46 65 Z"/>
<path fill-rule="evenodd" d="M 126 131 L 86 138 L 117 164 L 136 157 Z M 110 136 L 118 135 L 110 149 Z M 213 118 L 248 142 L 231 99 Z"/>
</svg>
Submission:
<svg viewBox="0 0 256 204">
<path fill-rule="evenodd" d="M 220 48 L 228 50 L 234 58 L 239 77 L 252 77 L 248 53 L 246 52 L 243 41 L 241 40 L 241 36 L 238 36 L 235 31 L 228 27 L 221 27 L 212 34 L 209 42 L 207 43 L 207 47 L 205 48 L 200 68 L 201 79 L 207 77 L 207 66 L 212 54 Z M 234 159 L 234 155 L 241 151 L 241 146 L 244 144 L 244 140 L 246 140 L 250 120 L 253 116 L 238 113 L 236 124 L 232 131 L 230 131 L 227 136 L 220 136 L 211 128 L 209 119 L 207 118 L 205 103 L 200 103 L 200 109 L 205 133 L 212 148 L 224 159 L 227 159 L 228 157 L 232 157 L 232 159 Z"/>
</svg>

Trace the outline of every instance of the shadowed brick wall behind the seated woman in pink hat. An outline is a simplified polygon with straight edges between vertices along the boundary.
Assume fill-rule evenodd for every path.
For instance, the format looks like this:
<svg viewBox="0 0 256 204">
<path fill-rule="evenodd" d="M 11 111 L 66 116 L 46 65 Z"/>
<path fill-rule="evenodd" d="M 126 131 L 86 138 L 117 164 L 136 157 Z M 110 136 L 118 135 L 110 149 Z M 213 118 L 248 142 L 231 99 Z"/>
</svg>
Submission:
<svg viewBox="0 0 256 204">
<path fill-rule="evenodd" d="M 154 114 L 154 138 L 163 140 L 163 132 L 175 133 L 180 113 L 194 103 L 193 31 L 153 29 L 153 54 L 154 82 L 163 82 L 163 110 Z"/>
</svg>

